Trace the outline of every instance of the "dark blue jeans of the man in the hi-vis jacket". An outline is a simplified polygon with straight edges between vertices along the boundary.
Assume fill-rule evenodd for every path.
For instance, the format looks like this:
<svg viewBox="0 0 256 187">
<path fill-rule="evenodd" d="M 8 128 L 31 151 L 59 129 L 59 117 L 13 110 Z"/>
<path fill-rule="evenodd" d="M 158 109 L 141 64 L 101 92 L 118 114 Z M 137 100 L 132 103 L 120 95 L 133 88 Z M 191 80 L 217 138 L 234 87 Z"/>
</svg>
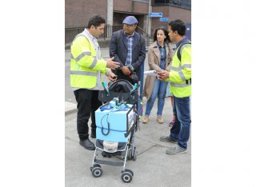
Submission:
<svg viewBox="0 0 256 187">
<path fill-rule="evenodd" d="M 190 97 L 174 97 L 174 125 L 170 129 L 170 138 L 177 140 L 178 145 L 187 148 L 190 138 Z"/>
</svg>

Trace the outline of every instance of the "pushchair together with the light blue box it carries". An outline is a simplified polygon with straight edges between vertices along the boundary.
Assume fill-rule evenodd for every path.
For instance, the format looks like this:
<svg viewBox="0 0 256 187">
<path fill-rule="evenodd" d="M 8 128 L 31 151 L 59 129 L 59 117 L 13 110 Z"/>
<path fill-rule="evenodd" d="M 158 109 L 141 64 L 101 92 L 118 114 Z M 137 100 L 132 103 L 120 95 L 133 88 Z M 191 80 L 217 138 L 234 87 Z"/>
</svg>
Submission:
<svg viewBox="0 0 256 187">
<path fill-rule="evenodd" d="M 99 91 L 98 99 L 105 103 L 95 111 L 96 143 L 94 158 L 90 171 L 94 177 L 102 176 L 101 165 L 122 166 L 122 181 L 132 181 L 134 173 L 126 169 L 126 161 L 136 161 L 138 151 L 134 145 L 134 133 L 139 128 L 138 120 L 138 87 L 126 80 L 118 80 Z M 98 153 L 103 157 L 118 157 L 122 161 L 98 159 Z M 111 158 L 110 158 L 111 159 Z"/>
</svg>

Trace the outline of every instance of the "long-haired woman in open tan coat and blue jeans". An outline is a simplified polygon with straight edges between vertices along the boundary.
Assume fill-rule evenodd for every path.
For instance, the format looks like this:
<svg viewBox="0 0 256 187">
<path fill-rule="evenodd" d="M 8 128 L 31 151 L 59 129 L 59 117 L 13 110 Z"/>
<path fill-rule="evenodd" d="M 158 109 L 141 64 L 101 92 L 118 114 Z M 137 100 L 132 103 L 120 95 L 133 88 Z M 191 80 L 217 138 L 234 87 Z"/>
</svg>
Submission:
<svg viewBox="0 0 256 187">
<path fill-rule="evenodd" d="M 158 28 L 154 32 L 154 43 L 150 46 L 148 52 L 148 62 L 150 70 L 170 71 L 170 66 L 173 57 L 173 50 L 170 45 L 170 38 L 167 30 Z M 154 105 L 154 100 L 158 97 L 158 112 L 157 121 L 163 123 L 162 109 L 165 105 L 166 87 L 168 82 L 162 82 L 157 77 L 147 75 L 143 96 L 147 98 L 146 112 L 142 122 L 147 123 L 149 121 L 150 111 Z"/>
</svg>

